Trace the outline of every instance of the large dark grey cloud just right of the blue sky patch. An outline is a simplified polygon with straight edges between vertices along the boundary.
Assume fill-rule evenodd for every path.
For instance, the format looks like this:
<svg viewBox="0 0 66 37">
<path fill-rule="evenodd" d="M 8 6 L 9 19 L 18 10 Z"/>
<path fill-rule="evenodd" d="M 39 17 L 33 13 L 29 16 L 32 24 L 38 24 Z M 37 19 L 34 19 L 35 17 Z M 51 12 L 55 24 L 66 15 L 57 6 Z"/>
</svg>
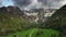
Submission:
<svg viewBox="0 0 66 37">
<path fill-rule="evenodd" d="M 32 2 L 31 0 L 12 0 L 12 1 L 13 1 L 14 5 L 20 7 L 22 9 L 24 9 Z"/>
</svg>

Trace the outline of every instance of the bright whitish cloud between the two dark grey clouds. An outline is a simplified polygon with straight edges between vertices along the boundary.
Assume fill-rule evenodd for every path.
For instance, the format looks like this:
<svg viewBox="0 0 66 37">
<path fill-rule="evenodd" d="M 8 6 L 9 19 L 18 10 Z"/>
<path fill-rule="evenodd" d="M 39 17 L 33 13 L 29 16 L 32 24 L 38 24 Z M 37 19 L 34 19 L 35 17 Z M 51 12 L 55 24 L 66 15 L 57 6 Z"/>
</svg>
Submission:
<svg viewBox="0 0 66 37">
<path fill-rule="evenodd" d="M 31 4 L 29 4 L 24 10 L 30 10 L 30 9 L 38 9 L 42 7 L 42 3 L 38 2 L 37 0 L 33 0 Z"/>
</svg>

